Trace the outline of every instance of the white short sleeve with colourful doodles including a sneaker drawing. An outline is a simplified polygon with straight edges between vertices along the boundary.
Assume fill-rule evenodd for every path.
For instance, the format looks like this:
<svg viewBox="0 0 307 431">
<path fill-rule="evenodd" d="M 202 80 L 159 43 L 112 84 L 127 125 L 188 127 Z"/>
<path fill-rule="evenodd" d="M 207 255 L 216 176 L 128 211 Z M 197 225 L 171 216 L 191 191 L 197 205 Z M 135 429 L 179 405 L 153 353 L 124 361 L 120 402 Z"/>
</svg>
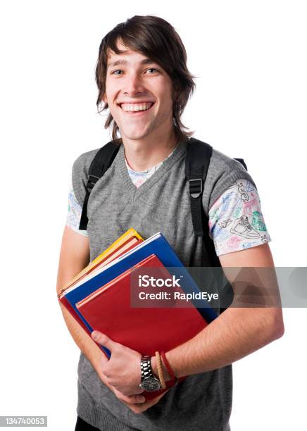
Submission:
<svg viewBox="0 0 307 431">
<path fill-rule="evenodd" d="M 218 256 L 270 242 L 256 187 L 239 179 L 209 210 L 209 235 Z"/>
</svg>

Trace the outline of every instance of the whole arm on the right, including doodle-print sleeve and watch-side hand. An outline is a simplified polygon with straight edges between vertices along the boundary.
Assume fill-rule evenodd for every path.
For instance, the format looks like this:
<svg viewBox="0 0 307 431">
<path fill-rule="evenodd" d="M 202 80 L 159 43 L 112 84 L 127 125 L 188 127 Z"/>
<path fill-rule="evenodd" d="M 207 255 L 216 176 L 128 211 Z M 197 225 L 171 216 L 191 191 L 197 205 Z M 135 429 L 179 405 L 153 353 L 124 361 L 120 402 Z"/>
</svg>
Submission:
<svg viewBox="0 0 307 431">
<path fill-rule="evenodd" d="M 246 199 L 246 190 L 244 187 L 251 193 L 249 196 L 250 199 Z M 237 189 L 239 193 L 235 192 Z M 243 192 L 244 200 L 241 197 Z M 236 209 L 235 218 L 237 220 L 235 221 L 237 223 L 234 227 L 238 229 L 235 232 L 239 232 L 237 241 L 230 242 L 230 244 L 226 240 L 224 241 L 224 237 L 218 237 L 221 227 L 228 230 L 232 227 L 229 223 L 225 224 L 225 221 L 228 222 L 228 220 L 225 220 L 225 211 L 227 211 L 228 207 L 232 211 Z M 257 218 L 253 220 L 254 226 L 261 232 L 265 230 L 266 234 L 263 235 L 263 238 L 250 225 L 244 208 L 246 208 L 246 213 L 255 211 Z M 216 237 L 217 239 L 215 241 L 215 250 L 218 248 L 221 266 L 234 289 L 237 308 L 228 308 L 194 338 L 166 353 L 170 366 L 175 370 L 177 377 L 203 373 L 208 370 L 227 366 L 283 335 L 282 308 L 280 306 L 274 263 L 270 247 L 268 244 L 263 244 L 263 239 L 268 241 L 270 237 L 266 231 L 260 211 L 260 200 L 258 199 L 256 190 L 252 187 L 251 183 L 247 184 L 246 180 L 238 180 L 237 187 L 227 189 L 217 199 L 215 205 L 211 207 L 209 228 L 212 238 Z M 223 225 L 218 225 L 218 221 L 223 220 Z M 240 235 L 245 231 L 250 235 L 248 237 L 253 238 L 250 240 L 251 244 L 248 244 L 249 249 L 242 249 L 242 236 Z M 232 237 L 234 237 L 232 239 L 236 239 L 234 233 L 232 232 Z M 227 235 L 226 239 L 228 239 Z M 258 245 L 256 245 L 257 242 Z M 241 249 L 232 251 L 234 246 L 237 249 Z M 244 273 L 243 280 L 245 285 L 247 283 L 247 287 L 251 285 L 256 286 L 256 289 L 252 288 L 253 291 L 250 294 L 250 298 L 253 299 L 256 291 L 258 294 L 256 299 L 264 299 L 265 305 L 271 308 L 263 308 L 263 304 L 259 306 L 254 301 L 251 304 L 252 308 L 250 308 L 250 305 L 249 308 L 246 308 L 246 299 L 249 299 L 249 296 L 244 294 L 242 298 L 242 292 L 240 292 L 242 282 L 239 277 L 236 275 L 233 276 L 237 268 L 245 268 L 245 270 L 239 272 L 239 275 Z M 256 284 L 254 284 L 255 273 L 256 276 L 265 275 L 264 280 L 256 280 Z M 268 296 L 268 293 L 270 293 L 270 296 Z M 237 301 L 237 297 L 239 297 L 239 301 Z M 275 301 L 275 304 L 273 304 L 274 307 L 272 307 L 272 298 Z M 108 382 L 111 382 L 113 386 L 118 387 L 122 392 L 127 394 L 135 393 L 134 391 L 137 389 L 139 382 L 140 354 L 113 342 L 106 334 L 100 335 L 97 341 L 104 346 L 109 346 L 110 349 L 113 347 L 113 349 L 118 351 L 118 355 L 115 355 L 116 361 L 110 361 L 104 367 L 104 373 L 108 378 Z M 129 372 L 127 372 L 127 363 L 130 364 Z M 157 375 L 155 356 L 151 358 L 151 363 L 153 373 Z M 168 375 L 165 368 L 163 372 L 165 380 L 170 380 L 170 375 Z"/>
</svg>

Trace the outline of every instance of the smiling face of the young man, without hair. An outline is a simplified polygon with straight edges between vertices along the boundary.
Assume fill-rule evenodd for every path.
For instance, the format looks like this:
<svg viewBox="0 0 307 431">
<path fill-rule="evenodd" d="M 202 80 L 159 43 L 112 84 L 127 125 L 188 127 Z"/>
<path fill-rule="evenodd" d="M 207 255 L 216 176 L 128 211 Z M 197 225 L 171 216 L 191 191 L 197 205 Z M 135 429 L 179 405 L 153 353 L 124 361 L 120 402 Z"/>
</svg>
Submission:
<svg viewBox="0 0 307 431">
<path fill-rule="evenodd" d="M 111 51 L 106 71 L 106 94 L 111 115 L 123 139 L 151 134 L 169 136 L 173 130 L 173 84 L 157 63 L 118 42 L 122 54 Z"/>
</svg>

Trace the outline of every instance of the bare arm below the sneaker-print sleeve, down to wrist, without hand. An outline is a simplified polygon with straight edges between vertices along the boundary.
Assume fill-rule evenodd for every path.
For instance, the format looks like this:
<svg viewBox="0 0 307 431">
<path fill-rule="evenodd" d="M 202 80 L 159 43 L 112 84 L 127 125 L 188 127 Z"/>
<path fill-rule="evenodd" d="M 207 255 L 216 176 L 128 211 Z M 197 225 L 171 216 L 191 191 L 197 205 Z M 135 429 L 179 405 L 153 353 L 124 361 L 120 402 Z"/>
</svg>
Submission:
<svg viewBox="0 0 307 431">
<path fill-rule="evenodd" d="M 232 283 L 234 294 L 237 293 L 237 287 L 230 267 L 274 267 L 268 244 L 224 254 L 219 258 L 227 279 Z M 278 291 L 276 279 L 270 277 L 270 284 L 267 283 L 265 288 Z M 244 358 L 282 337 L 283 333 L 282 308 L 278 306 L 227 308 L 208 327 L 188 342 L 168 351 L 166 356 L 177 377 L 203 373 Z M 156 371 L 155 358 L 152 361 Z"/>
</svg>

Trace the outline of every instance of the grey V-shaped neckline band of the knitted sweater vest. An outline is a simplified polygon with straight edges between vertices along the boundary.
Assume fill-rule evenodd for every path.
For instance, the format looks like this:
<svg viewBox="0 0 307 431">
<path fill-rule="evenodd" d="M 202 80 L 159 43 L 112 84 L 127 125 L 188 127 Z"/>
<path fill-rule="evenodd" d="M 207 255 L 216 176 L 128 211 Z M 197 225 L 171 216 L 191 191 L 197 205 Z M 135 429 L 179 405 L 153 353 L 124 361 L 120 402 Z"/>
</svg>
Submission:
<svg viewBox="0 0 307 431">
<path fill-rule="evenodd" d="M 142 196 L 142 194 L 146 193 L 151 187 L 163 177 L 170 168 L 172 168 L 173 165 L 177 161 L 182 158 L 182 156 L 185 154 L 187 149 L 187 141 L 184 139 L 180 141 L 177 144 L 177 147 L 173 151 L 173 154 L 170 154 L 168 158 L 166 158 L 162 165 L 156 170 L 151 177 L 149 177 L 148 180 L 146 180 L 142 185 L 139 187 L 136 187 L 134 183 L 132 182 L 130 175 L 127 170 L 127 166 L 125 163 L 125 148 L 123 143 L 120 144 L 120 149 L 118 150 L 118 154 L 116 156 L 116 165 L 118 168 L 117 175 L 120 176 L 121 180 L 123 181 L 123 185 L 127 191 L 127 193 L 130 196 L 130 199 L 134 200 L 137 199 L 139 196 Z"/>
</svg>

